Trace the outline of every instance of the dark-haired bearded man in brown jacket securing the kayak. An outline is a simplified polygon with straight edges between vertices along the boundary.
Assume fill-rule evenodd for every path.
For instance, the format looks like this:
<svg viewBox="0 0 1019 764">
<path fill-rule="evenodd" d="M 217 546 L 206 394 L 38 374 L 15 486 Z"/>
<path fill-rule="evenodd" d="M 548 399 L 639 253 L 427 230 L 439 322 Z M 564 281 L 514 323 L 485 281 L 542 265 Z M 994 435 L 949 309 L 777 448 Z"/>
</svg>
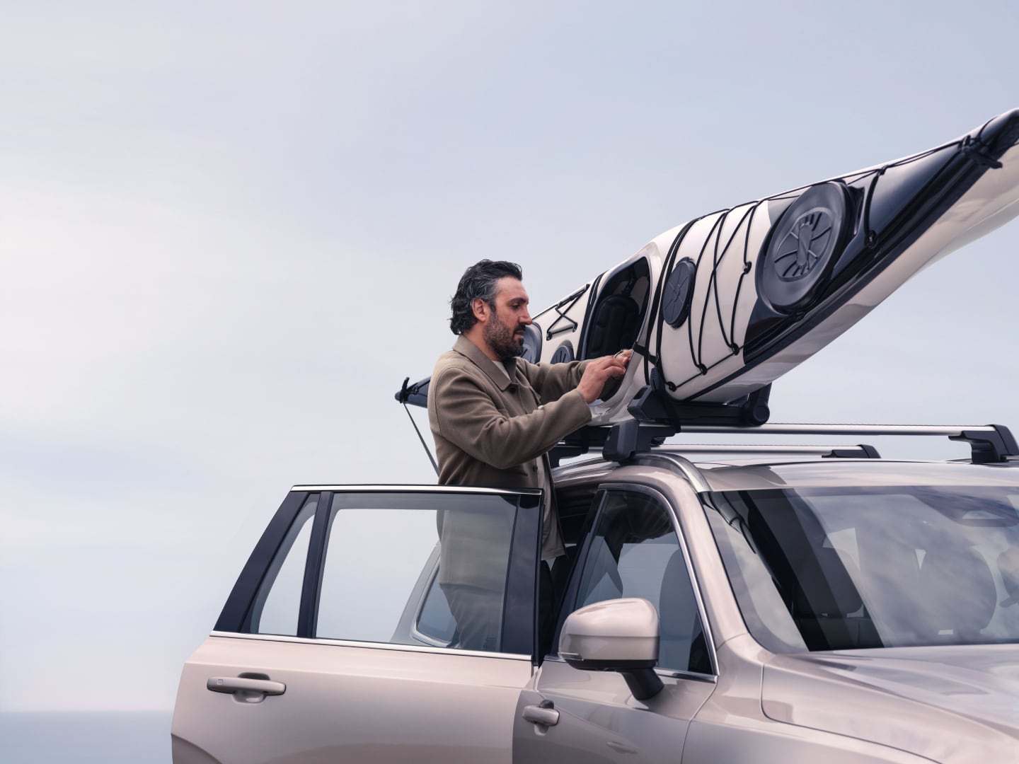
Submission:
<svg viewBox="0 0 1019 764">
<path fill-rule="evenodd" d="M 522 278 L 520 266 L 504 261 L 482 260 L 465 271 L 450 301 L 449 327 L 459 337 L 432 372 L 428 421 L 440 484 L 545 489 L 541 558 L 550 560 L 565 549 L 547 451 L 590 422 L 588 404 L 626 373 L 631 351 L 555 365 L 521 359 L 524 330 L 531 323 Z M 483 596 L 471 583 L 486 578 L 477 560 L 450 556 L 448 550 L 459 546 L 447 543 L 451 532 L 451 527 L 443 529 L 439 583 L 457 619 L 461 647 L 488 649 L 480 646 L 492 644 L 496 593 L 489 585 L 482 587 Z M 470 534 L 484 535 L 476 527 Z"/>
</svg>

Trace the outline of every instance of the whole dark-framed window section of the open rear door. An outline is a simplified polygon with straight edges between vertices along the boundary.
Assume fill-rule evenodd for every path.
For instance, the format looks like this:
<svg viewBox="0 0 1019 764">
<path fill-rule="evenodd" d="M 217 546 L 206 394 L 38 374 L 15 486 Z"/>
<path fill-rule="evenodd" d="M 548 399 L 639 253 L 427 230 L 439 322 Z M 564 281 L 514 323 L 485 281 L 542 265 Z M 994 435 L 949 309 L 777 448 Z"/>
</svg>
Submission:
<svg viewBox="0 0 1019 764">
<path fill-rule="evenodd" d="M 533 657 L 539 492 L 304 496 L 263 534 L 218 631 Z"/>
</svg>

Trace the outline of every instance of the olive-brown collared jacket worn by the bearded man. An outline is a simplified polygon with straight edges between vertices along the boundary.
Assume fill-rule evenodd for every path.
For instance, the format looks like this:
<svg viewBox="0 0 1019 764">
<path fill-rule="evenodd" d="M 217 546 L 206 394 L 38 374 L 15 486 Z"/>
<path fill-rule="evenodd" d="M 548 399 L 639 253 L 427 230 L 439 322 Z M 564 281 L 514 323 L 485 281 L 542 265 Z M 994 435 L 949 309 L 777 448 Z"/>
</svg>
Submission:
<svg viewBox="0 0 1019 764">
<path fill-rule="evenodd" d="M 436 362 L 428 389 L 439 483 L 540 487 L 545 452 L 591 421 L 576 389 L 586 365 L 515 359 L 505 364 L 506 376 L 474 342 L 458 337 Z"/>
</svg>

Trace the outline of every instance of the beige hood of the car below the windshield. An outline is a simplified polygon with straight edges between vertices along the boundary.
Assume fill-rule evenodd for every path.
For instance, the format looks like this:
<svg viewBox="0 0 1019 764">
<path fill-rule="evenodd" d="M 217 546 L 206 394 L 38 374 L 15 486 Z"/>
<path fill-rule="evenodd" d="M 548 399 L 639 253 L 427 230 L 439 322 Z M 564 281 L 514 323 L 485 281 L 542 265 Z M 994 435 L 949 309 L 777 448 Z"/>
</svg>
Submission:
<svg viewBox="0 0 1019 764">
<path fill-rule="evenodd" d="M 1010 746 L 1019 760 L 1017 698 L 1019 650 L 964 645 L 773 655 L 761 705 L 777 721 L 985 762 Z"/>
</svg>

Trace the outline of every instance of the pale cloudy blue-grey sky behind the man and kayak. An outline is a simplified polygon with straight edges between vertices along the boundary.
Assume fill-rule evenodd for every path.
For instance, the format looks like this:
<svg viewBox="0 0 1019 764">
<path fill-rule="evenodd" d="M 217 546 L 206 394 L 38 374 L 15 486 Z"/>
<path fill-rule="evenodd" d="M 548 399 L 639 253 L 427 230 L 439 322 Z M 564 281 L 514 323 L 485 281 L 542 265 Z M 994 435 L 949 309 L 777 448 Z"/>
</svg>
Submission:
<svg viewBox="0 0 1019 764">
<path fill-rule="evenodd" d="M 291 485 L 434 482 L 393 393 L 471 263 L 521 263 L 540 310 L 1019 106 L 1008 0 L 0 14 L 0 712 L 170 708 Z M 1013 221 L 780 379 L 771 421 L 1019 427 L 1017 276 Z"/>
</svg>

